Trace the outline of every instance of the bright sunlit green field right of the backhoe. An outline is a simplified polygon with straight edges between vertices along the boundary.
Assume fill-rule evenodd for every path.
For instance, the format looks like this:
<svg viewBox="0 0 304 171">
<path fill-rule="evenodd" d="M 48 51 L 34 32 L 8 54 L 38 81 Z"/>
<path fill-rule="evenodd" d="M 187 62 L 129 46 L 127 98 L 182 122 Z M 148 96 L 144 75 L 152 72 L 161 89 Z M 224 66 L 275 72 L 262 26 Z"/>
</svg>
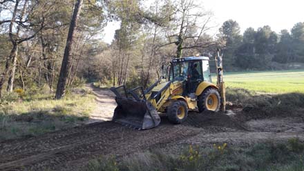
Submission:
<svg viewBox="0 0 304 171">
<path fill-rule="evenodd" d="M 216 77 L 213 76 L 213 82 Z M 224 81 L 229 88 L 245 88 L 255 92 L 304 93 L 304 70 L 264 72 L 224 72 Z"/>
</svg>

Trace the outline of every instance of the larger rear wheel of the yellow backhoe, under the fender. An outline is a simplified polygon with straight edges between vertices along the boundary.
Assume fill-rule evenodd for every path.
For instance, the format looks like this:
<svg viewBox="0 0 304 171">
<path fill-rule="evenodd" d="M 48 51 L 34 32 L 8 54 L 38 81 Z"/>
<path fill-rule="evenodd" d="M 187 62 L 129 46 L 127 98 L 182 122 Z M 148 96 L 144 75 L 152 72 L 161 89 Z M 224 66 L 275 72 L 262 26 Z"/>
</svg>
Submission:
<svg viewBox="0 0 304 171">
<path fill-rule="evenodd" d="M 220 93 L 216 88 L 207 88 L 198 97 L 198 111 L 218 112 L 220 110 Z"/>
</svg>

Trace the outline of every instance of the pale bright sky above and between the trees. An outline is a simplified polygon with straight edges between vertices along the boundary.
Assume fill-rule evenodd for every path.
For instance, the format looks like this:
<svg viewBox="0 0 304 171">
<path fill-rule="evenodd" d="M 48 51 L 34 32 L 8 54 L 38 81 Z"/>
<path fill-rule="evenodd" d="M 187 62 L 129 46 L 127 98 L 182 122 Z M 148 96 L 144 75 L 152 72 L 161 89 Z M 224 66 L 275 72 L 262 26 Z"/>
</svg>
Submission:
<svg viewBox="0 0 304 171">
<path fill-rule="evenodd" d="M 215 26 L 210 34 L 218 32 L 218 28 L 228 19 L 237 21 L 243 33 L 246 28 L 255 30 L 270 26 L 279 33 L 283 29 L 290 30 L 295 23 L 304 22 L 304 0 L 196 0 L 205 10 L 213 12 Z M 120 28 L 119 22 L 108 23 L 104 28 L 106 43 L 111 43 L 115 30 Z"/>
</svg>

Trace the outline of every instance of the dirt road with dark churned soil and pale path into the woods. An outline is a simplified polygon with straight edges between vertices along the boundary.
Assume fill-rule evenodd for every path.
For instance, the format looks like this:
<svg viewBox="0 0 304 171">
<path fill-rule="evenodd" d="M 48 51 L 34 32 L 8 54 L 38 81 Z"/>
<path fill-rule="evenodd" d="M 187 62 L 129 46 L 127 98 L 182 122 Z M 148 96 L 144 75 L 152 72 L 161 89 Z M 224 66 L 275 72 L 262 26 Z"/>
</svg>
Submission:
<svg viewBox="0 0 304 171">
<path fill-rule="evenodd" d="M 115 106 L 111 92 L 93 89 L 100 107 L 97 119 L 105 112 L 111 116 Z M 111 107 L 112 106 L 112 107 Z M 133 130 L 105 121 L 44 134 L 40 137 L 15 139 L 0 143 L 0 170 L 81 170 L 90 159 L 106 154 L 123 156 L 155 148 L 174 148 L 182 144 L 231 145 L 257 141 L 284 141 L 291 137 L 304 140 L 303 118 L 238 120 L 240 110 L 229 114 L 190 113 L 182 125 L 172 125 L 166 117 L 151 130 Z"/>
</svg>

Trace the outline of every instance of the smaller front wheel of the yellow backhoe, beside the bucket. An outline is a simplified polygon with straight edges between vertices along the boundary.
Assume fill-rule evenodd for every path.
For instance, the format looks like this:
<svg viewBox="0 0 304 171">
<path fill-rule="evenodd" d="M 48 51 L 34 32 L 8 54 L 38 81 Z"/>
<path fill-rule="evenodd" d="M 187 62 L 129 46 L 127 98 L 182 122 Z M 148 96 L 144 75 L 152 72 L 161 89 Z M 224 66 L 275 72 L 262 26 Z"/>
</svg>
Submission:
<svg viewBox="0 0 304 171">
<path fill-rule="evenodd" d="M 168 119 L 171 123 L 180 124 L 188 117 L 187 103 L 184 101 L 173 101 L 167 110 Z"/>
</svg>

